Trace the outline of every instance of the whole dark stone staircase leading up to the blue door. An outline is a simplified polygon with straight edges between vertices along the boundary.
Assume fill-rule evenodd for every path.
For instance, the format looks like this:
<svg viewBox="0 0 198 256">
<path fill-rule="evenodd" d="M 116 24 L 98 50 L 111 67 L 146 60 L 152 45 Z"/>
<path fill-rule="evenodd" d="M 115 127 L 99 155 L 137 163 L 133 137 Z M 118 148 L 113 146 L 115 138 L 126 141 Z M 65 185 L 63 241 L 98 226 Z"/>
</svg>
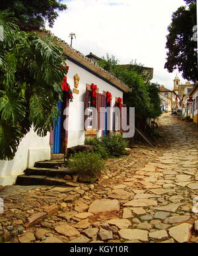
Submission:
<svg viewBox="0 0 198 256">
<path fill-rule="evenodd" d="M 74 171 L 67 168 L 67 162 L 63 159 L 39 161 L 34 167 L 27 168 L 24 174 L 16 179 L 16 185 L 48 185 L 75 187 L 75 183 L 64 179 L 65 175 L 75 175 Z"/>
</svg>

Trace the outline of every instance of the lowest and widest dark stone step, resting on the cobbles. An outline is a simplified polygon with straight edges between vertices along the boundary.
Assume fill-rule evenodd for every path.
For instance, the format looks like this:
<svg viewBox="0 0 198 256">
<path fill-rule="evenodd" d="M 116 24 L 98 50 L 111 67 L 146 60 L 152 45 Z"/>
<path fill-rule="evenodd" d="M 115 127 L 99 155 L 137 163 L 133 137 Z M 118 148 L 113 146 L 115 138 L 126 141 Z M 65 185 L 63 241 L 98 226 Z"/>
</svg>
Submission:
<svg viewBox="0 0 198 256">
<path fill-rule="evenodd" d="M 30 186 L 30 185 L 46 185 L 46 186 L 65 186 L 78 187 L 75 183 L 66 181 L 59 177 L 47 177 L 43 175 L 19 175 L 16 179 L 16 185 Z"/>
</svg>

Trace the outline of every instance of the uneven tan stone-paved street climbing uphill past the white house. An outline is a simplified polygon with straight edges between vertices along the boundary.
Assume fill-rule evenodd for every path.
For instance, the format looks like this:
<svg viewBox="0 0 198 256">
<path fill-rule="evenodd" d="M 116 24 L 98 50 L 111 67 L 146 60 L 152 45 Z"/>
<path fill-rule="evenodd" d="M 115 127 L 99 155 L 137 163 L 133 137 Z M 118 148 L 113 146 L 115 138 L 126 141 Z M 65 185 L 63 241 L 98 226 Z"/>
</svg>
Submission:
<svg viewBox="0 0 198 256">
<path fill-rule="evenodd" d="M 94 185 L 5 198 L 0 241 L 198 242 L 198 128 L 169 113 L 158 125 L 163 138 L 156 148 L 135 146 L 109 159 Z"/>
</svg>

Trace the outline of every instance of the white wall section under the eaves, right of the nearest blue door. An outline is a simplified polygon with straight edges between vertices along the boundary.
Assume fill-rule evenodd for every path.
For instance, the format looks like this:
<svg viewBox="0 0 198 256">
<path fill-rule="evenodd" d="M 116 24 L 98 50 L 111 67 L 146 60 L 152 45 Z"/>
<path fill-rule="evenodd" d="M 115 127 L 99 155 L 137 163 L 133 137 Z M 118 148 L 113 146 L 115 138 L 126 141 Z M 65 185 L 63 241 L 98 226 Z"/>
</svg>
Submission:
<svg viewBox="0 0 198 256">
<path fill-rule="evenodd" d="M 74 75 L 78 74 L 80 77 L 78 87 L 79 94 L 73 93 L 73 102 L 69 103 L 68 148 L 71 148 L 73 146 L 84 144 L 83 102 L 85 100 L 86 84 L 94 83 L 94 85 L 97 85 L 99 93 L 103 93 L 103 91 L 109 91 L 110 93 L 112 93 L 112 107 L 114 107 L 116 97 L 121 97 L 123 99 L 123 92 L 69 60 L 67 60 L 67 65 L 69 65 L 67 82 L 69 83 L 72 90 L 73 88 L 75 88 L 73 78 Z M 110 118 L 112 119 L 112 113 L 110 115 Z M 98 136 L 101 136 L 101 134 L 102 132 L 98 131 Z"/>
</svg>

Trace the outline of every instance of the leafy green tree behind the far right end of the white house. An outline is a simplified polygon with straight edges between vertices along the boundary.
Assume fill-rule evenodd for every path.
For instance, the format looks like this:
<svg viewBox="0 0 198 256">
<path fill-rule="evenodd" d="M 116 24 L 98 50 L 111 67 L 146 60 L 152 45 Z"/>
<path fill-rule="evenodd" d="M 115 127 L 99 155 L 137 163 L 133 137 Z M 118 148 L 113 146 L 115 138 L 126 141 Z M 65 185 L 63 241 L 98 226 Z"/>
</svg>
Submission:
<svg viewBox="0 0 198 256">
<path fill-rule="evenodd" d="M 127 107 L 135 107 L 136 118 L 145 119 L 160 116 L 158 85 L 145 81 L 141 74 L 143 65 L 132 61 L 131 68 L 127 65 L 126 69 L 125 65 L 119 65 L 119 60 L 116 60 L 115 56 L 110 57 L 109 54 L 107 54 L 106 59 L 102 57 L 98 64 L 131 89 L 129 93 L 124 93 L 123 100 Z"/>
</svg>

